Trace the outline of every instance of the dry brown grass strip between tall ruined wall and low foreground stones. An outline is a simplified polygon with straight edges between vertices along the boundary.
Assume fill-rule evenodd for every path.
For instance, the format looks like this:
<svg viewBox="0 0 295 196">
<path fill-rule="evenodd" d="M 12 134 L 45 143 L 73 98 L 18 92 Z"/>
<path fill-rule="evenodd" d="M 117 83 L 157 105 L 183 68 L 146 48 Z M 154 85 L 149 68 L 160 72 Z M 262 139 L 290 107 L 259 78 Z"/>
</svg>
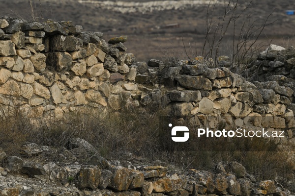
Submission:
<svg viewBox="0 0 295 196">
<path fill-rule="evenodd" d="M 227 164 L 238 161 L 246 167 L 248 173 L 260 180 L 280 176 L 283 177 L 283 183 L 294 178 L 294 161 L 287 153 L 279 152 L 279 144 L 274 141 L 245 140 L 244 143 L 233 145 L 227 141 L 207 140 L 198 140 L 196 144 L 192 140 L 188 144 L 191 149 L 189 151 L 168 149 L 167 147 L 175 146 L 163 146 L 161 143 L 158 112 L 148 115 L 136 112 L 137 108 L 122 108 L 120 113 L 108 111 L 102 116 L 97 109 L 83 109 L 83 112 L 69 113 L 63 122 L 53 122 L 32 121 L 17 108 L 11 109 L 10 115 L 3 116 L 0 122 L 0 147 L 8 154 L 18 154 L 19 147 L 26 141 L 62 149 L 67 147 L 70 139 L 82 138 L 109 161 L 123 159 L 133 164 L 147 164 L 161 160 L 168 163 L 172 170 L 178 171 L 191 168 L 211 171 L 218 162 Z M 200 150 L 204 146 L 217 150 Z M 122 156 L 126 152 L 131 152 L 133 156 Z M 59 158 L 58 154 L 53 157 L 55 161 Z"/>
</svg>

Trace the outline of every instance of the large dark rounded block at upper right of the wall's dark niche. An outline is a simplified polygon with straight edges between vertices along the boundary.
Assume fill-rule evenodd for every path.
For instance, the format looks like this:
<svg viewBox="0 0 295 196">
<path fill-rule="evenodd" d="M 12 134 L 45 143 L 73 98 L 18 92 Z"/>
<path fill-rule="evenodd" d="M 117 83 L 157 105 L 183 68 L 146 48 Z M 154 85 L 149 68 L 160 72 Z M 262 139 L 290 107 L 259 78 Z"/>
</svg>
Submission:
<svg viewBox="0 0 295 196">
<path fill-rule="evenodd" d="M 72 35 L 56 35 L 51 38 L 52 49 L 56 51 L 76 51 L 83 47 L 82 41 Z"/>
</svg>

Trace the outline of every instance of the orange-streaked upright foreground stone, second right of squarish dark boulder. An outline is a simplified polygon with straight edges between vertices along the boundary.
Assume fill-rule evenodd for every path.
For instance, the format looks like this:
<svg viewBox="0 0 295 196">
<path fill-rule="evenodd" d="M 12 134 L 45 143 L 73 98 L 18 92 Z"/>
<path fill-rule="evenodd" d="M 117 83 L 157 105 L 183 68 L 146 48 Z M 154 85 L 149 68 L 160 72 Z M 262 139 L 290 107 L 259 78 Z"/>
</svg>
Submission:
<svg viewBox="0 0 295 196">
<path fill-rule="evenodd" d="M 109 187 L 117 191 L 126 191 L 133 179 L 132 172 L 121 166 L 110 166 L 109 170 L 114 174 Z"/>
</svg>

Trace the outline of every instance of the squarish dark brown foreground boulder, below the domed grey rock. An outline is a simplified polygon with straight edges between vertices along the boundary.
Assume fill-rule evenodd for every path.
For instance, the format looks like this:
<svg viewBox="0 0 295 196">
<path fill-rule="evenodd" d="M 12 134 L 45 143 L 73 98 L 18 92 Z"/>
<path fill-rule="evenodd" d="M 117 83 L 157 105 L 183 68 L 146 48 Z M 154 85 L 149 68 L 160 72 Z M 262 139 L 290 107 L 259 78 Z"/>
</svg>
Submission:
<svg viewBox="0 0 295 196">
<path fill-rule="evenodd" d="M 83 168 L 76 175 L 76 186 L 79 189 L 90 188 L 95 190 L 100 182 L 101 171 L 98 167 Z"/>
</svg>

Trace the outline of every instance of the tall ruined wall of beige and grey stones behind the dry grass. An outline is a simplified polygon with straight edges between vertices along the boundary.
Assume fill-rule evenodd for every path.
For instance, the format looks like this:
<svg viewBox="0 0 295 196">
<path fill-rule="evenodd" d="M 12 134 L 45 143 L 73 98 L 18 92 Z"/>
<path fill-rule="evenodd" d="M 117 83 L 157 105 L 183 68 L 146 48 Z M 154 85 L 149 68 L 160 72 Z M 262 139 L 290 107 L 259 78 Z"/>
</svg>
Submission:
<svg viewBox="0 0 295 196">
<path fill-rule="evenodd" d="M 294 90 L 276 81 L 249 82 L 228 68 L 196 57 L 135 63 L 122 44 L 72 22 L 0 19 L 0 105 L 18 105 L 34 118 L 62 120 L 79 106 L 119 111 L 132 105 L 163 109 L 196 127 L 205 116 L 226 117 L 228 127 L 284 130 L 293 138 Z M 210 123 L 210 128 L 216 128 Z"/>
</svg>

